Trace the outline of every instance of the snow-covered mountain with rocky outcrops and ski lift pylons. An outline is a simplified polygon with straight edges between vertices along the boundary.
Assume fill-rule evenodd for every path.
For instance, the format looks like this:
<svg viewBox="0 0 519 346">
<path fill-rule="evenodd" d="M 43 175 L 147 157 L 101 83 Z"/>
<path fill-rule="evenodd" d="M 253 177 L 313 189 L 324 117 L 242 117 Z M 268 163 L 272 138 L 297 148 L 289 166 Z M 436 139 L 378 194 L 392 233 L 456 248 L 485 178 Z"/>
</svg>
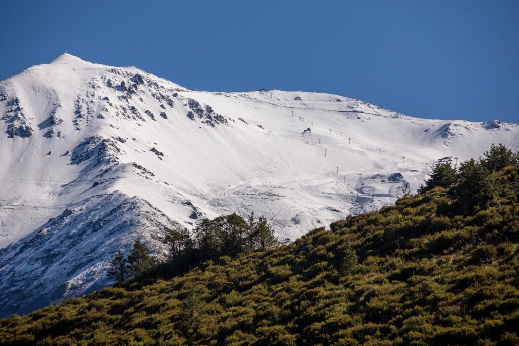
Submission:
<svg viewBox="0 0 519 346">
<path fill-rule="evenodd" d="M 441 107 L 441 103 L 439 103 Z M 294 239 L 415 190 L 431 163 L 519 149 L 519 126 L 343 96 L 196 92 L 63 54 L 0 82 L 0 315 L 110 284 L 136 237 L 237 212 Z"/>
</svg>

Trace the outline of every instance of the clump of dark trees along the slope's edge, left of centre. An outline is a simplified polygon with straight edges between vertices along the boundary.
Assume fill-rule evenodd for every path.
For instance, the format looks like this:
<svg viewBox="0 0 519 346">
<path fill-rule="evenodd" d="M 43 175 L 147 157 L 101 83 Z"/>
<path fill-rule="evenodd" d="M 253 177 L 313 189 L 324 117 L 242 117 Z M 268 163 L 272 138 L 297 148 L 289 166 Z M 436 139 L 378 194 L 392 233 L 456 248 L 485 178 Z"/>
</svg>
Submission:
<svg viewBox="0 0 519 346">
<path fill-rule="evenodd" d="M 235 213 L 212 220 L 204 218 L 193 231 L 185 227 L 169 230 L 163 242 L 168 257 L 162 262 L 157 261 L 141 238 L 135 240 L 127 256 L 119 249 L 109 262 L 108 277 L 120 284 L 144 276 L 178 275 L 210 259 L 235 258 L 281 244 L 267 219 L 256 218 L 254 213 L 247 220 Z"/>
</svg>

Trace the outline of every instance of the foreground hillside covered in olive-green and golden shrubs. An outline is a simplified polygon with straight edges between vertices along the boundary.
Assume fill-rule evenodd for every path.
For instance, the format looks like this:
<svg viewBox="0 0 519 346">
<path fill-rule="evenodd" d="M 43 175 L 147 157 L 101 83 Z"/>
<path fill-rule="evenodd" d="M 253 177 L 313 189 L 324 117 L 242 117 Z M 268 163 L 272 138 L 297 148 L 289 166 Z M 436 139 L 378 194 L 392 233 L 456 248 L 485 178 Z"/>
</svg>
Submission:
<svg viewBox="0 0 519 346">
<path fill-rule="evenodd" d="M 0 320 L 0 343 L 184 344 L 199 292 L 199 344 L 518 344 L 518 168 L 496 175 L 475 215 L 437 188 L 266 253 Z"/>
</svg>

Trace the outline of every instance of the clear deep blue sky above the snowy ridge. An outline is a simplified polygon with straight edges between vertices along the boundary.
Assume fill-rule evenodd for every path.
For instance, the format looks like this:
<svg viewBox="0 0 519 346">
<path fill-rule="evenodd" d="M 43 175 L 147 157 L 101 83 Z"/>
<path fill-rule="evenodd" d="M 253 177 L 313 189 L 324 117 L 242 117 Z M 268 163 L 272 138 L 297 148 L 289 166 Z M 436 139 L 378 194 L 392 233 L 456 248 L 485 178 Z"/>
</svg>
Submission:
<svg viewBox="0 0 519 346">
<path fill-rule="evenodd" d="M 22 1 L 0 79 L 65 50 L 199 90 L 329 92 L 427 118 L 519 121 L 519 1 Z"/>
</svg>

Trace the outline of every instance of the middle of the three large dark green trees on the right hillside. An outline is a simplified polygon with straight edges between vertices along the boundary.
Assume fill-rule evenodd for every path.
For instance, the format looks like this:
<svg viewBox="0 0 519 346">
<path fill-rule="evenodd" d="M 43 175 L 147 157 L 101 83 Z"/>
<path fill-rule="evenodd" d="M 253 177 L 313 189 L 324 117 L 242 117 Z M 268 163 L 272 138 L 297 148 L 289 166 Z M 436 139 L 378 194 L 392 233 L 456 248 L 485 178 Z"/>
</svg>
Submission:
<svg viewBox="0 0 519 346">
<path fill-rule="evenodd" d="M 485 206 L 492 199 L 493 181 L 482 164 L 474 159 L 462 162 L 458 175 L 455 197 L 463 212 L 472 213 L 476 206 Z"/>
</svg>

